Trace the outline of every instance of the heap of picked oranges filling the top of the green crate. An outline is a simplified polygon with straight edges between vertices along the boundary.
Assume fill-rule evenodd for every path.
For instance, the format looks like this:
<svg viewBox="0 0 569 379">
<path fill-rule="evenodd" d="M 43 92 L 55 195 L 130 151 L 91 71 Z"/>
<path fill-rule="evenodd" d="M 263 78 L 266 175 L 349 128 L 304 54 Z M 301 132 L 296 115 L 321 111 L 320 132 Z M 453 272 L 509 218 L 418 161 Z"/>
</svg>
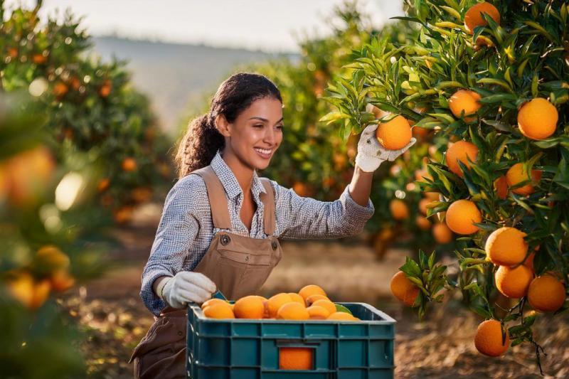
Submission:
<svg viewBox="0 0 569 379">
<path fill-rule="evenodd" d="M 316 284 L 297 292 L 281 292 L 266 299 L 258 295 L 245 296 L 234 304 L 222 299 L 209 299 L 201 305 L 203 314 L 211 319 L 281 319 L 357 321 L 346 311 L 338 311 Z"/>
</svg>

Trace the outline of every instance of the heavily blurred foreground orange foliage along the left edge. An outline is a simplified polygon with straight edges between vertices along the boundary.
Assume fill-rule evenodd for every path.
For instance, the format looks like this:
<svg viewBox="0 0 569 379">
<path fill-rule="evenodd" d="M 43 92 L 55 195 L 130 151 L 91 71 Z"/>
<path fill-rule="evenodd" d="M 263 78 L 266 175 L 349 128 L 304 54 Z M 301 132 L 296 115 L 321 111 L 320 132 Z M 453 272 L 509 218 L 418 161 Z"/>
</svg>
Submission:
<svg viewBox="0 0 569 379">
<path fill-rule="evenodd" d="M 58 163 L 43 105 L 1 95 L 0 109 L 2 375 L 82 377 L 81 333 L 56 299 L 102 269 L 97 170 L 80 152 Z"/>
</svg>

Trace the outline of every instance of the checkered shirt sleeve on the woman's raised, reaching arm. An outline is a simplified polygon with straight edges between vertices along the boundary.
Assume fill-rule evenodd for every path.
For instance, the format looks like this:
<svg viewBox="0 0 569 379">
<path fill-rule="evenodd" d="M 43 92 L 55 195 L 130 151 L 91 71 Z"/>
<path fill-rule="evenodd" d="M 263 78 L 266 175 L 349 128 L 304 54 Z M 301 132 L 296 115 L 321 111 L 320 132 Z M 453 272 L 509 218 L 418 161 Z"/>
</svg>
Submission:
<svg viewBox="0 0 569 379">
<path fill-rule="evenodd" d="M 373 215 L 373 203 L 353 201 L 346 186 L 336 201 L 304 198 L 272 181 L 277 205 L 277 235 L 285 238 L 336 238 L 356 235 Z"/>
</svg>

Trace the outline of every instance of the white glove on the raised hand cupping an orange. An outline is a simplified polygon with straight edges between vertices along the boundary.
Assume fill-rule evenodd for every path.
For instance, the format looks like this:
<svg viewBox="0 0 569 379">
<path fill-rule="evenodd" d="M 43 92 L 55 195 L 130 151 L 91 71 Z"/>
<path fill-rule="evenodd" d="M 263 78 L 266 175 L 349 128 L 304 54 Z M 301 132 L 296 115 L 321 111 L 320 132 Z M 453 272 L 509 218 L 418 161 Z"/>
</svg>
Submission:
<svg viewBox="0 0 569 379">
<path fill-rule="evenodd" d="M 381 146 L 376 138 L 376 129 L 378 129 L 378 125 L 371 124 L 361 132 L 360 140 L 358 142 L 356 164 L 360 169 L 362 169 L 362 171 L 373 172 L 376 171 L 379 165 L 384 161 L 395 161 L 398 156 L 403 154 L 407 149 L 413 146 L 415 142 L 417 142 L 417 139 L 413 137 L 410 139 L 407 146 L 403 147 L 403 149 L 388 150 Z"/>
</svg>

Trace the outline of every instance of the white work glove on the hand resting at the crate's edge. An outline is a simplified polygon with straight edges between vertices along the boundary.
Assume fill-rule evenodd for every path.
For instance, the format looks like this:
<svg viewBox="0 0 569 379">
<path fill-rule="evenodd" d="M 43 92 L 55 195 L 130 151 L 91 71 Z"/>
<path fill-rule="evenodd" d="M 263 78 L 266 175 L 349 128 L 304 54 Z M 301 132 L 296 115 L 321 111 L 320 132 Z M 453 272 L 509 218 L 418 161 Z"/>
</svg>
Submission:
<svg viewBox="0 0 569 379">
<path fill-rule="evenodd" d="M 211 299 L 216 284 L 200 272 L 181 271 L 174 277 L 163 279 L 156 287 L 158 297 L 172 308 L 181 309 L 189 301 L 201 304 Z"/>
</svg>

